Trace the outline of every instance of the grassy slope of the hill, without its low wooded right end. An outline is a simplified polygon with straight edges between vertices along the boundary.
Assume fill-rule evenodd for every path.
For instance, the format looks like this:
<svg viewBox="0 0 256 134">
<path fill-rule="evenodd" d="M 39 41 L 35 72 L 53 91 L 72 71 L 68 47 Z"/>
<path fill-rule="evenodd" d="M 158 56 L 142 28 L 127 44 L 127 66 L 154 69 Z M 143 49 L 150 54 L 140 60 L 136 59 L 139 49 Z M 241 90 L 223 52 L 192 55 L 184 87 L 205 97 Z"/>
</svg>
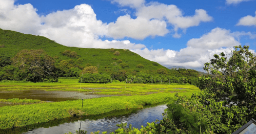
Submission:
<svg viewBox="0 0 256 134">
<path fill-rule="evenodd" d="M 109 49 L 66 47 L 43 36 L 23 34 L 10 30 L 0 29 L 0 45 L 4 46 L 3 48 L 0 48 L 0 55 L 14 57 L 17 52 L 23 49 L 43 49 L 48 55 L 54 57 L 58 62 L 64 59 L 72 59 L 71 57 L 61 54 L 65 50 L 75 51 L 78 57 L 73 58 L 74 60 L 78 58 L 83 59 L 81 65 L 91 63 L 92 65 L 97 66 L 99 64 L 100 70 L 104 70 L 105 65 L 110 65 L 112 62 L 117 62 L 118 59 L 122 59 L 122 62 L 129 64 L 128 70 L 137 69 L 136 65 L 140 63 L 144 65 L 144 68 L 140 69 L 141 71 L 154 71 L 159 68 L 165 68 L 164 66 L 144 59 L 140 55 L 130 52 L 129 50 L 115 49 L 115 51 L 117 50 L 121 54 L 120 56 L 115 56 L 113 55 L 113 52 L 109 52 Z M 112 59 L 112 57 L 116 57 L 117 60 Z M 153 63 L 155 65 L 153 65 Z"/>
</svg>

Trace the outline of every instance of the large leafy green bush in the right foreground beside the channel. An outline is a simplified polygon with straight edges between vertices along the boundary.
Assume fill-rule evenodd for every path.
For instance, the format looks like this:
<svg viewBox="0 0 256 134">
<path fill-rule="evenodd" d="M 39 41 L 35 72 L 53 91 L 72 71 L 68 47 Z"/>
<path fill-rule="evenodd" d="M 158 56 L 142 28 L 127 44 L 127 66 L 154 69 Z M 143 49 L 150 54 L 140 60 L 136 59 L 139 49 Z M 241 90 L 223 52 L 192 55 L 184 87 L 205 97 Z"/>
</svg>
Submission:
<svg viewBox="0 0 256 134">
<path fill-rule="evenodd" d="M 177 95 L 178 101 L 168 106 L 168 119 L 176 128 L 193 133 L 200 126 L 203 132 L 226 134 L 256 118 L 256 56 L 248 46 L 234 48 L 229 60 L 222 52 L 221 58 L 215 54 L 205 63 L 204 70 L 213 75 L 199 78 L 199 95 Z"/>
</svg>

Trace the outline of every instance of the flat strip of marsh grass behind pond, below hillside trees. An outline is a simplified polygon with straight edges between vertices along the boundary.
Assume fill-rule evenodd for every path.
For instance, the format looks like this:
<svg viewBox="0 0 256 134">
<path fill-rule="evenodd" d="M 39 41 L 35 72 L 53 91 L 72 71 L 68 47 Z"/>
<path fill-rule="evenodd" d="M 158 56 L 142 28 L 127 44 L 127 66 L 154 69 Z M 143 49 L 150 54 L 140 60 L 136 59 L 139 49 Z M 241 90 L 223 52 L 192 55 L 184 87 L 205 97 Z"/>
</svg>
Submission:
<svg viewBox="0 0 256 134">
<path fill-rule="evenodd" d="M 74 91 L 74 92 L 92 92 L 97 95 L 146 95 L 151 93 L 173 93 L 173 92 L 198 92 L 199 88 L 190 84 L 126 84 L 107 83 L 107 84 L 91 84 L 78 83 L 78 78 L 59 79 L 60 82 L 39 82 L 39 83 L 13 83 L 2 82 L 0 91 L 23 91 L 23 90 L 44 90 L 44 91 Z M 81 84 L 81 89 L 80 89 Z M 187 88 L 183 90 L 174 88 Z"/>
</svg>

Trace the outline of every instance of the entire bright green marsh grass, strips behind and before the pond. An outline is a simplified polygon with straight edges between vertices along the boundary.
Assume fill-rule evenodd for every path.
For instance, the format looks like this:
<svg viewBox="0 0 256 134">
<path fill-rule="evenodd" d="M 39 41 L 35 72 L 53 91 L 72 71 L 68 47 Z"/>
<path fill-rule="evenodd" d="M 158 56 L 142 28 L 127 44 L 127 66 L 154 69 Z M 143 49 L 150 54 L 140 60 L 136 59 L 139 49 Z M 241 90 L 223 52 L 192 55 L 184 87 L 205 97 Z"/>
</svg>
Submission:
<svg viewBox="0 0 256 134">
<path fill-rule="evenodd" d="M 191 96 L 200 92 L 193 85 L 161 84 L 87 84 L 78 79 L 60 79 L 56 83 L 1 82 L 0 91 L 45 90 L 95 92 L 102 95 L 120 95 L 84 100 L 4 106 L 0 108 L 0 129 L 21 127 L 67 117 L 99 115 L 115 110 L 143 108 L 143 105 L 175 101 L 175 93 Z M 81 86 L 81 89 L 80 89 Z M 186 89 L 173 89 L 186 88 Z M 3 100 L 6 101 L 6 100 Z M 14 100 L 13 100 L 14 101 Z M 21 100 L 16 100 L 21 101 Z"/>
</svg>

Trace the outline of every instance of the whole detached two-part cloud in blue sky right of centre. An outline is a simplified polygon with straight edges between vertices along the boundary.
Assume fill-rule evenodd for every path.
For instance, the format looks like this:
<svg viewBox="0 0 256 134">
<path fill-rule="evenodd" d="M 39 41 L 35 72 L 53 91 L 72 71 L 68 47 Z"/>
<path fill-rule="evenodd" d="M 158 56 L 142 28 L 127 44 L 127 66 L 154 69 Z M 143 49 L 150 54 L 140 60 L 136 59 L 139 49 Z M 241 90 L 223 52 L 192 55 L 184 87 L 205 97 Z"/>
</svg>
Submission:
<svg viewBox="0 0 256 134">
<path fill-rule="evenodd" d="M 123 6 L 130 6 L 123 4 L 123 0 L 112 2 L 119 3 Z M 133 3 L 133 5 L 136 4 L 134 1 L 125 2 Z M 199 26 L 201 22 L 213 20 L 203 9 L 196 9 L 193 16 L 183 16 L 183 12 L 175 5 L 160 4 L 157 2 L 145 5 L 144 1 L 138 2 L 140 2 L 140 7 L 136 8 L 136 18 L 133 19 L 130 15 L 117 18 L 115 23 L 109 24 L 109 37 L 144 39 L 148 36 L 164 36 L 169 31 L 174 31 L 173 37 L 180 38 L 179 29 L 186 31 L 189 27 Z M 173 26 L 173 30 L 168 30 L 167 24 Z"/>
</svg>

